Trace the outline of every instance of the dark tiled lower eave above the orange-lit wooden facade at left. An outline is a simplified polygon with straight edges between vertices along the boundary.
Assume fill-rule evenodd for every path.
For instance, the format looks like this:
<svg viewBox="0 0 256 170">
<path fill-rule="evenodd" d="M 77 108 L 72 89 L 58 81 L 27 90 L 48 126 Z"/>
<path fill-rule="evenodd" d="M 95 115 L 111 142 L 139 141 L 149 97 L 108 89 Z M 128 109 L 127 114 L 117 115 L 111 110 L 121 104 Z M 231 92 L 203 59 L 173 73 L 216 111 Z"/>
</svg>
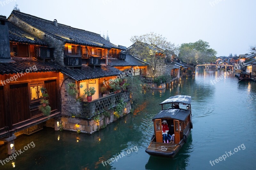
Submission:
<svg viewBox="0 0 256 170">
<path fill-rule="evenodd" d="M 34 58 L 12 58 L 15 63 L 0 63 L 0 74 L 15 74 L 29 72 L 47 72 L 47 71 L 59 71 L 60 66 L 53 63 L 38 62 Z M 30 70 L 31 68 L 31 70 Z"/>
</svg>

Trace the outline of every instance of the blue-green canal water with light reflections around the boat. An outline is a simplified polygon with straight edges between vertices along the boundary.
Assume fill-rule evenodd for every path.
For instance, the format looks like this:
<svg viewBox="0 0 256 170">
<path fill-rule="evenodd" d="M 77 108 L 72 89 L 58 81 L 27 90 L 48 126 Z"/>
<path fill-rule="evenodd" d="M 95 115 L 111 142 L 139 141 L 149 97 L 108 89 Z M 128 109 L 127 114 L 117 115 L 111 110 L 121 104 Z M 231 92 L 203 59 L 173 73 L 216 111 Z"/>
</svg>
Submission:
<svg viewBox="0 0 256 170">
<path fill-rule="evenodd" d="M 220 75 L 225 78 L 212 85 L 211 80 L 213 82 Z M 12 163 L 15 169 L 37 170 L 255 169 L 255 82 L 238 83 L 234 74 L 201 69 L 194 78 L 183 78 L 171 89 L 145 93 L 143 101 L 133 103 L 133 114 L 92 136 L 44 128 L 33 135 L 18 138 L 15 140 L 16 150 L 32 141 L 35 147 L 4 166 L 0 164 L 0 169 L 13 169 Z M 158 104 L 178 94 L 192 96 L 193 129 L 188 142 L 174 159 L 150 156 L 145 149 L 153 134 L 152 118 L 161 110 Z M 233 154 L 238 146 L 240 150 Z M 211 166 L 210 160 L 230 151 L 232 155 L 225 161 Z M 0 160 L 7 158 L 6 146 L 0 147 L 0 153 Z M 107 165 L 103 166 L 102 161 L 119 154 L 117 161 L 106 162 Z"/>
</svg>

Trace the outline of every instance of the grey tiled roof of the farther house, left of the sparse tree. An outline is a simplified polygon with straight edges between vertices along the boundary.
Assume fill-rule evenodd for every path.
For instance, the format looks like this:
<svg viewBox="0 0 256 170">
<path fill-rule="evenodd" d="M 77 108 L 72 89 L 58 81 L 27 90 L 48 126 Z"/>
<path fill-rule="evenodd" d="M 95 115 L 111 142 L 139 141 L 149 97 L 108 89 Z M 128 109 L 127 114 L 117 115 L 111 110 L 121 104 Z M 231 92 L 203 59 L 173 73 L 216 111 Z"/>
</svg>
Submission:
<svg viewBox="0 0 256 170">
<path fill-rule="evenodd" d="M 126 54 L 125 60 L 118 58 L 108 58 L 108 65 L 114 66 L 146 66 L 148 63 L 143 62 L 130 54 Z"/>
</svg>

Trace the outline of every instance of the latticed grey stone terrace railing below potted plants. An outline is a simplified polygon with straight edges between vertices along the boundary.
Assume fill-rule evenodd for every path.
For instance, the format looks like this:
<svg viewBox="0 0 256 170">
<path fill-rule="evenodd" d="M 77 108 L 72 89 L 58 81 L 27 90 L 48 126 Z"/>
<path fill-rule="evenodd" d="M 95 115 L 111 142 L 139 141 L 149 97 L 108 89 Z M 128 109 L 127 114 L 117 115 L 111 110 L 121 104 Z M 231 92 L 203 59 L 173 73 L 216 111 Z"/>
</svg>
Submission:
<svg viewBox="0 0 256 170">
<path fill-rule="evenodd" d="M 130 92 L 120 92 L 116 94 L 110 94 L 100 99 L 92 100 L 91 102 L 81 102 L 81 118 L 90 119 L 92 116 L 104 112 L 105 110 L 116 107 L 118 102 L 123 99 L 124 102 L 130 100 Z"/>
</svg>

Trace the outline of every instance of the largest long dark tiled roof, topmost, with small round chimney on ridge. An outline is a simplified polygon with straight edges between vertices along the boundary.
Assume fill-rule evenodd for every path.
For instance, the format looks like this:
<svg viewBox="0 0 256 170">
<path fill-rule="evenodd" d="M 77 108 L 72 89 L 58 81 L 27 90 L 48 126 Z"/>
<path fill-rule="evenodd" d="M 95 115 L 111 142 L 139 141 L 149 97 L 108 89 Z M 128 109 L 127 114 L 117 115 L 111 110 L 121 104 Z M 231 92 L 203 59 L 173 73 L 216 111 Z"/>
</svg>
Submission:
<svg viewBox="0 0 256 170">
<path fill-rule="evenodd" d="M 33 15 L 25 14 L 19 11 L 12 11 L 12 14 L 9 18 L 14 15 L 20 20 L 24 21 L 30 26 L 35 27 L 36 29 L 47 33 L 57 39 L 60 39 L 66 43 L 79 44 L 79 45 L 88 45 L 100 48 L 120 48 L 100 36 L 100 34 L 92 33 L 82 29 L 73 28 L 64 24 L 58 23 L 58 27 L 53 25 L 53 21 L 49 21 L 43 18 L 38 18 Z M 70 39 L 71 38 L 71 39 Z"/>
</svg>

